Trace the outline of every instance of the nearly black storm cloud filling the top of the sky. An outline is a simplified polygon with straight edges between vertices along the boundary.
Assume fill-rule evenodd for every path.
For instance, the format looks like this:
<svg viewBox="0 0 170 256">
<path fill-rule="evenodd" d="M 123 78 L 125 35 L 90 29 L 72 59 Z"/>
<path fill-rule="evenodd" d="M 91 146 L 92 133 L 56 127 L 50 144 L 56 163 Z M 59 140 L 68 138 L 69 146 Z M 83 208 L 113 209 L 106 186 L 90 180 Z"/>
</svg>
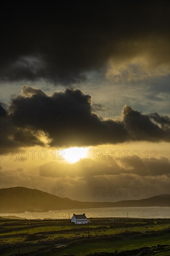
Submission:
<svg viewBox="0 0 170 256">
<path fill-rule="evenodd" d="M 1 31 L 1 74 L 44 75 L 53 84 L 68 85 L 84 80 L 88 71 L 105 72 L 109 60 L 116 65 L 147 55 L 144 64 L 157 67 L 169 58 L 168 10 L 168 1 L 9 5 Z M 150 47 L 153 38 L 156 48 Z"/>
</svg>

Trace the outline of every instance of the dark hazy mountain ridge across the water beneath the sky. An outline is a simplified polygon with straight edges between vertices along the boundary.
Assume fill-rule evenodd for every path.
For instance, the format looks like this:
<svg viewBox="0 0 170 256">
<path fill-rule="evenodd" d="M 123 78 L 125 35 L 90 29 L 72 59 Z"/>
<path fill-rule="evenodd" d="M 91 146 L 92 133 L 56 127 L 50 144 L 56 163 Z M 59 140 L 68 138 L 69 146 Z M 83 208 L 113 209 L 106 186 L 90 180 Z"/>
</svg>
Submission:
<svg viewBox="0 0 170 256">
<path fill-rule="evenodd" d="M 23 192 L 24 191 L 24 192 Z M 170 195 L 156 195 L 139 200 L 118 202 L 80 202 L 61 198 L 38 189 L 13 187 L 0 189 L 0 213 L 48 212 L 62 209 L 87 209 L 104 207 L 164 207 L 170 206 Z"/>
</svg>

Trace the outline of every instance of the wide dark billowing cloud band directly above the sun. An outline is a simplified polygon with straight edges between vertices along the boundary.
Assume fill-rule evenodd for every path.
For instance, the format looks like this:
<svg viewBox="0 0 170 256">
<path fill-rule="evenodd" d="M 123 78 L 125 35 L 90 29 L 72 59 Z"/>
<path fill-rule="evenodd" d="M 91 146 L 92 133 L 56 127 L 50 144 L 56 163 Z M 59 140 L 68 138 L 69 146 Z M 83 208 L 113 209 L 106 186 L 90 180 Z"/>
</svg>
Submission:
<svg viewBox="0 0 170 256">
<path fill-rule="evenodd" d="M 91 96 L 80 90 L 66 89 L 48 96 L 40 89 L 23 87 L 22 94 L 12 99 L 8 114 L 2 107 L 1 112 L 2 149 L 169 141 L 167 116 L 157 114 L 155 123 L 155 114 L 150 118 L 125 106 L 122 121 L 102 121 L 92 112 Z"/>
</svg>

